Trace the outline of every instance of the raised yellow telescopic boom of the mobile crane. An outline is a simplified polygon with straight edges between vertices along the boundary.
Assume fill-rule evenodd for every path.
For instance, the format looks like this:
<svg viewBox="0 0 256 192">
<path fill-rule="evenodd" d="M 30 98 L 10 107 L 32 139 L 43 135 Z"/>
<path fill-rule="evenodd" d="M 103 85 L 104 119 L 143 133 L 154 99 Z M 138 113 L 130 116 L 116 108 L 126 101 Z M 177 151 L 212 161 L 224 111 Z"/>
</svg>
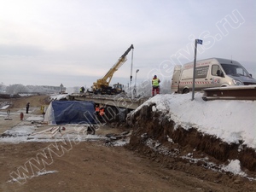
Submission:
<svg viewBox="0 0 256 192">
<path fill-rule="evenodd" d="M 125 51 L 125 53 L 120 56 L 119 60 L 116 61 L 113 67 L 109 69 L 108 73 L 106 73 L 102 79 L 97 79 L 97 81 L 93 83 L 94 90 L 102 89 L 102 87 L 109 86 L 109 83 L 113 78 L 113 73 L 115 73 L 119 69 L 119 67 L 121 67 L 125 63 L 125 61 L 127 61 L 126 55 L 128 55 L 131 49 L 134 49 L 133 44 L 131 44 L 131 46 Z"/>
</svg>

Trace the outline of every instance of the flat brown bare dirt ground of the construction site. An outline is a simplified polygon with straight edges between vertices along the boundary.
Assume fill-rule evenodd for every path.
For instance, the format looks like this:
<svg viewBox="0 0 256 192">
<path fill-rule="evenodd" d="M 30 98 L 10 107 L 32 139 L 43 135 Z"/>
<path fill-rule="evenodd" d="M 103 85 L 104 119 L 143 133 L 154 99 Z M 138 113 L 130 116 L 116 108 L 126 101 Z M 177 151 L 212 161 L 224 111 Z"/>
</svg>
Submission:
<svg viewBox="0 0 256 192">
<path fill-rule="evenodd" d="M 11 111 L 25 111 L 30 102 L 31 107 L 38 107 L 32 113 L 39 114 L 45 98 L 12 99 Z M 20 123 L 16 114 L 13 120 L 0 119 L 1 133 Z M 119 129 L 106 128 L 125 131 Z M 143 148 L 129 148 L 111 147 L 104 141 L 0 143 L 0 191 L 256 191 L 255 181 L 247 178 L 213 172 L 185 160 L 169 158 L 167 166 L 164 157 L 146 148 L 143 152 Z M 26 179 L 15 180 L 18 170 Z"/>
</svg>

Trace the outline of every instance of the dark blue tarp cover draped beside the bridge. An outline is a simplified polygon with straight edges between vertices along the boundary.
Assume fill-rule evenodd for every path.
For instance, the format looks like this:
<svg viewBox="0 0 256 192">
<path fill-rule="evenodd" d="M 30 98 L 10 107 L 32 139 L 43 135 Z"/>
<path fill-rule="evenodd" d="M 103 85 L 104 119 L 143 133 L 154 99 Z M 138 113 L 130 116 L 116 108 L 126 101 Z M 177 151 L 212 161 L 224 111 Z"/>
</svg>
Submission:
<svg viewBox="0 0 256 192">
<path fill-rule="evenodd" d="M 53 101 L 45 113 L 49 124 L 95 124 L 94 102 Z"/>
</svg>

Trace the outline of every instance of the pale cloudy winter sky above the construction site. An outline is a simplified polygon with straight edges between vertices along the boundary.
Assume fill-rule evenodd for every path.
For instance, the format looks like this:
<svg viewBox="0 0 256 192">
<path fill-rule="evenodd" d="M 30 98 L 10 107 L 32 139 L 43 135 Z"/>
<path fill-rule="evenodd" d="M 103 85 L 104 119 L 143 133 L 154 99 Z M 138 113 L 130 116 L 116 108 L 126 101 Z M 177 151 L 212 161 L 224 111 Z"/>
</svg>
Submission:
<svg viewBox="0 0 256 192">
<path fill-rule="evenodd" d="M 0 0 L 0 83 L 88 87 L 134 44 L 133 77 L 221 57 L 256 77 L 253 0 Z M 131 53 L 111 83 L 130 82 Z M 163 65 L 166 64 L 166 65 Z M 166 66 L 168 68 L 166 70 Z M 171 70 L 172 71 L 172 70 Z"/>
</svg>

